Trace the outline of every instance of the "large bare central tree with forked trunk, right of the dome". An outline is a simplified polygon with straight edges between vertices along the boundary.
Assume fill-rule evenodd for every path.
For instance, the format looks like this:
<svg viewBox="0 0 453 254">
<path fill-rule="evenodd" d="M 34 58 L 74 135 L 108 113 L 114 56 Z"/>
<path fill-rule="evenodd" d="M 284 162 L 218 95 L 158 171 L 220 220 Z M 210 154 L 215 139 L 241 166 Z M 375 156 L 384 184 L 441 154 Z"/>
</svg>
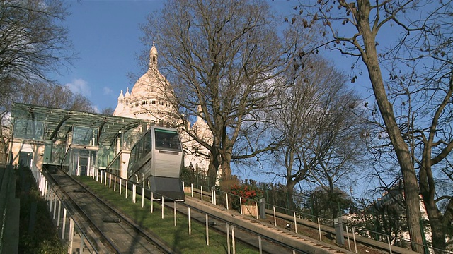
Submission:
<svg viewBox="0 0 453 254">
<path fill-rule="evenodd" d="M 231 160 L 269 149 L 234 149 L 245 135 L 259 140 L 261 123 L 265 126 L 260 116 L 274 107 L 282 88 L 276 77 L 289 49 L 265 2 L 167 1 L 161 15 L 149 17 L 144 32 L 145 42 L 159 44 L 159 66 L 175 90 L 183 126 L 199 116 L 212 131 L 212 143 L 188 132 L 210 151 L 212 179 L 219 167 L 222 179 L 229 179 Z"/>
</svg>

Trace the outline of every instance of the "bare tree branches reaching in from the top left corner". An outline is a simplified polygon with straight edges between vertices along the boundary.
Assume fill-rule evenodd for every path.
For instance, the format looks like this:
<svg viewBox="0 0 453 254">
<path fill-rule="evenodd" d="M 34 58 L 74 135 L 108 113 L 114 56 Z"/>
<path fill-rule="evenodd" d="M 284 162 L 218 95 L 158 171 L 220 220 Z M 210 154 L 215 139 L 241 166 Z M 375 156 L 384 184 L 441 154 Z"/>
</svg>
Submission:
<svg viewBox="0 0 453 254">
<path fill-rule="evenodd" d="M 49 80 L 49 71 L 70 63 L 71 42 L 62 25 L 67 15 L 59 0 L 0 2 L 2 92 L 14 84 L 11 81 Z"/>
</svg>

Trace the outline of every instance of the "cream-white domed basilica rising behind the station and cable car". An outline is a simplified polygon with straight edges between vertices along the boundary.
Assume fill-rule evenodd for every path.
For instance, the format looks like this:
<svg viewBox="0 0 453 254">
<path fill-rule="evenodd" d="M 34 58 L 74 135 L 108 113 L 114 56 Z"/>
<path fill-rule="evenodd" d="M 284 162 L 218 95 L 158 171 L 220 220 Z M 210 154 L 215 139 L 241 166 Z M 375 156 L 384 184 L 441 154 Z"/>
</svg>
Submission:
<svg viewBox="0 0 453 254">
<path fill-rule="evenodd" d="M 122 116 L 134 119 L 142 119 L 151 124 L 161 126 L 178 126 L 178 111 L 173 106 L 173 90 L 164 75 L 157 68 L 157 49 L 151 47 L 149 52 L 149 68 L 132 87 L 131 92 L 127 88 L 125 94 L 120 92 L 114 116 Z M 200 107 L 198 109 L 201 116 Z M 207 123 L 198 116 L 190 131 L 202 137 L 207 143 L 212 143 L 212 133 Z M 185 167 L 191 167 L 197 171 L 207 171 L 210 159 L 209 151 L 191 139 L 187 133 L 180 131 L 185 152 Z"/>
</svg>

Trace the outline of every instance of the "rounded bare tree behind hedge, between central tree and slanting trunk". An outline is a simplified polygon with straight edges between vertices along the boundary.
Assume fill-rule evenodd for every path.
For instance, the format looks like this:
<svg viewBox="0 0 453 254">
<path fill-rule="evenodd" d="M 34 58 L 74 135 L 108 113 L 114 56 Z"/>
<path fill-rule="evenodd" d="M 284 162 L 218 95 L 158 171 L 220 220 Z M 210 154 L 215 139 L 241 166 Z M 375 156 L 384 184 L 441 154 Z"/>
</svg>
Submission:
<svg viewBox="0 0 453 254">
<path fill-rule="evenodd" d="M 319 56 L 305 56 L 297 66 L 288 75 L 292 85 L 280 98 L 286 103 L 274 112 L 275 138 L 282 141 L 273 155 L 284 165 L 290 194 L 306 180 L 334 199 L 335 188 L 350 187 L 348 175 L 365 151 L 356 114 L 359 100 L 346 87 L 345 76 Z"/>
</svg>

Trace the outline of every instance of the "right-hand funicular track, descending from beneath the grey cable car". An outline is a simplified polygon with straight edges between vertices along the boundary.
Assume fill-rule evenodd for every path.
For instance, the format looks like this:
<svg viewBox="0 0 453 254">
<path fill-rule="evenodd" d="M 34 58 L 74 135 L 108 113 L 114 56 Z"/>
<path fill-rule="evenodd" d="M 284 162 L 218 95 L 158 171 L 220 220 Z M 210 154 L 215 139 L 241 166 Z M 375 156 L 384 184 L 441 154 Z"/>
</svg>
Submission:
<svg viewBox="0 0 453 254">
<path fill-rule="evenodd" d="M 107 185 L 107 176 L 104 176 L 104 178 L 104 184 Z M 114 181 L 113 177 L 109 177 L 109 179 Z M 116 183 L 119 184 L 117 180 L 119 178 L 116 177 L 115 179 Z M 125 187 L 124 181 L 122 182 L 122 186 Z M 128 186 L 128 189 L 132 191 L 132 184 Z M 142 188 L 136 188 L 137 194 L 142 195 L 142 190 Z M 147 200 L 149 200 L 150 193 L 147 190 L 144 191 L 144 197 L 147 197 Z M 290 231 L 285 231 L 275 226 L 263 225 L 254 219 L 242 216 L 238 212 L 226 210 L 222 207 L 202 202 L 196 198 L 186 196 L 185 202 L 164 202 L 164 206 L 171 210 L 174 209 L 174 205 L 176 205 L 178 213 L 185 214 L 186 216 L 190 208 L 192 219 L 200 224 L 206 224 L 207 226 L 209 224 L 210 229 L 219 231 L 222 234 L 229 234 L 227 232 L 228 226 L 234 226 L 236 229 L 236 241 L 241 241 L 257 249 L 261 246 L 262 253 L 350 253 L 338 246 L 332 246 L 311 238 L 293 234 Z"/>
</svg>

